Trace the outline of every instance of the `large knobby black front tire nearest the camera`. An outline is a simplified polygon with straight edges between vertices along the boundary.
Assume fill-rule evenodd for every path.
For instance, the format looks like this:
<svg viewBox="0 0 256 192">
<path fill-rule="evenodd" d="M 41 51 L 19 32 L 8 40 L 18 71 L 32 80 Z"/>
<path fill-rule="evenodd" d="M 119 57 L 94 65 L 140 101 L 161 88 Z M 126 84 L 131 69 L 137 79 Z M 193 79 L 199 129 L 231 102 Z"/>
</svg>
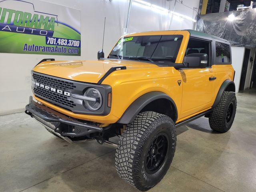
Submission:
<svg viewBox="0 0 256 192">
<path fill-rule="evenodd" d="M 165 143 L 168 143 L 165 144 L 168 146 L 165 158 L 161 164 L 158 164 L 160 166 L 158 169 L 148 173 L 150 171 L 145 158 L 148 157 L 149 151 L 151 152 L 152 143 L 162 135 L 166 137 Z M 148 190 L 158 184 L 166 174 L 174 157 L 175 148 L 176 129 L 173 120 L 156 112 L 141 112 L 131 124 L 126 126 L 120 137 L 116 149 L 116 170 L 123 180 L 135 188 Z"/>
</svg>

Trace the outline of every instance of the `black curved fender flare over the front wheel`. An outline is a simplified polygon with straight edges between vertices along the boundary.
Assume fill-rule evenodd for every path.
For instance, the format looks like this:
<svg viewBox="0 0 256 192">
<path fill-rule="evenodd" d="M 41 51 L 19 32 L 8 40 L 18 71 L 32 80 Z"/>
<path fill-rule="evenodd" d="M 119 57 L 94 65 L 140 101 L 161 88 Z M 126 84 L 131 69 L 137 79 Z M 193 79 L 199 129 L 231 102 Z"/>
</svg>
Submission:
<svg viewBox="0 0 256 192">
<path fill-rule="evenodd" d="M 138 115 L 138 113 L 150 102 L 157 100 L 157 99 L 168 99 L 172 105 L 175 108 L 175 120 L 174 123 L 176 122 L 177 118 L 178 118 L 178 110 L 176 107 L 176 104 L 174 102 L 174 100 L 172 100 L 172 98 L 170 98 L 170 96 L 168 96 L 167 94 L 160 92 L 160 91 L 153 91 L 153 92 L 148 92 L 142 96 L 140 96 L 139 98 L 137 98 L 134 102 L 132 102 L 132 104 L 130 104 L 130 106 L 126 109 L 126 111 L 124 112 L 124 114 L 121 116 L 121 118 L 118 120 L 118 123 L 121 124 L 129 124 L 131 123 L 134 118 Z"/>
</svg>

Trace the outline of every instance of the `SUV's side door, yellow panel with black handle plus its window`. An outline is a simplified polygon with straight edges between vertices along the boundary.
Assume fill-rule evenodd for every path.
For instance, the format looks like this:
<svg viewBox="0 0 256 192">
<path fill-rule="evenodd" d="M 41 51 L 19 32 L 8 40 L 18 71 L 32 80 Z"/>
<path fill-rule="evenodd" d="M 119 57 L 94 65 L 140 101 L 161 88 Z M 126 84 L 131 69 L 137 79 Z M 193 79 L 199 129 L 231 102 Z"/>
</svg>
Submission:
<svg viewBox="0 0 256 192">
<path fill-rule="evenodd" d="M 211 107 L 214 88 L 214 72 L 211 68 L 212 42 L 190 38 L 186 55 L 206 53 L 208 67 L 186 68 L 181 70 L 183 80 L 183 96 L 181 118 L 196 114 Z"/>
</svg>

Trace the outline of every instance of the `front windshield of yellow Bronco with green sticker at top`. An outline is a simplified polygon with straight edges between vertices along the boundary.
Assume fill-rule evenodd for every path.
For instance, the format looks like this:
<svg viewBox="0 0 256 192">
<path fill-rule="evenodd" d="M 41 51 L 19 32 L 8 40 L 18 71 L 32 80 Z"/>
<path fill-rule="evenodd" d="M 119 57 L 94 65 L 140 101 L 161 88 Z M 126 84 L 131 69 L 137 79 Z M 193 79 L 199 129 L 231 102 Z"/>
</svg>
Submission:
<svg viewBox="0 0 256 192">
<path fill-rule="evenodd" d="M 108 58 L 148 62 L 175 62 L 182 35 L 150 35 L 120 38 Z"/>
</svg>

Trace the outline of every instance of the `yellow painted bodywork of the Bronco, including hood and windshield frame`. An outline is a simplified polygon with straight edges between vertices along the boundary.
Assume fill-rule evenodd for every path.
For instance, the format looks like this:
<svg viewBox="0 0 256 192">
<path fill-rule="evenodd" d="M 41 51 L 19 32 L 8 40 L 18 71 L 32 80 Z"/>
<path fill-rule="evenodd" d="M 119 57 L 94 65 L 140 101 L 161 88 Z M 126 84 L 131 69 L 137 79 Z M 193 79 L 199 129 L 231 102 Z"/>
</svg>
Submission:
<svg viewBox="0 0 256 192">
<path fill-rule="evenodd" d="M 182 63 L 190 34 L 188 31 L 156 31 L 127 34 L 129 36 L 141 35 L 183 35 L 176 63 Z M 112 107 L 106 116 L 75 114 L 40 98 L 35 99 L 42 104 L 68 116 L 112 124 L 118 121 L 125 110 L 140 96 L 152 91 L 160 91 L 170 96 L 178 110 L 180 122 L 198 113 L 211 108 L 218 90 L 226 79 L 233 80 L 232 65 L 212 65 L 212 68 L 176 70 L 174 67 L 158 67 L 147 62 L 131 60 L 82 60 L 82 61 L 50 61 L 43 62 L 33 70 L 60 78 L 97 83 L 102 76 L 114 66 L 126 66 L 126 70 L 112 72 L 102 84 L 112 88 Z M 209 77 L 217 79 L 209 81 Z M 180 86 L 177 81 L 181 80 Z M 104 101 L 106 102 L 106 101 Z"/>
</svg>

